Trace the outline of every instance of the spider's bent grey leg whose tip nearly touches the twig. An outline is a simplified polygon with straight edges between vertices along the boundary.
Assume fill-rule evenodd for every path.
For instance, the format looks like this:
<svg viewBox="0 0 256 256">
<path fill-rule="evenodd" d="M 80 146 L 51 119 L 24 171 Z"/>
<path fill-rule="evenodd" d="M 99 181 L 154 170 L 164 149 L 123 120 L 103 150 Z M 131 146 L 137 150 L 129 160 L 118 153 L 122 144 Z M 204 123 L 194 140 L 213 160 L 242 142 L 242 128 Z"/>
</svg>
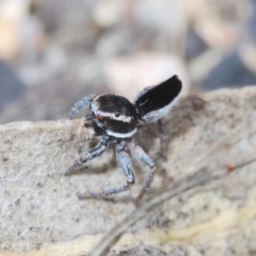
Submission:
<svg viewBox="0 0 256 256">
<path fill-rule="evenodd" d="M 137 197 L 137 203 L 138 203 L 143 197 L 143 195 L 147 192 L 147 190 L 150 187 L 150 184 L 154 179 L 155 165 L 154 165 L 154 160 L 148 154 L 145 153 L 143 148 L 139 147 L 136 144 L 136 141 L 134 139 L 131 140 L 130 143 L 128 143 L 128 148 L 130 149 L 131 154 L 133 155 L 134 158 L 136 158 L 137 160 L 143 162 L 145 165 L 150 167 L 150 171 L 148 172 L 144 180 L 143 189 L 140 195 L 138 195 Z"/>
</svg>

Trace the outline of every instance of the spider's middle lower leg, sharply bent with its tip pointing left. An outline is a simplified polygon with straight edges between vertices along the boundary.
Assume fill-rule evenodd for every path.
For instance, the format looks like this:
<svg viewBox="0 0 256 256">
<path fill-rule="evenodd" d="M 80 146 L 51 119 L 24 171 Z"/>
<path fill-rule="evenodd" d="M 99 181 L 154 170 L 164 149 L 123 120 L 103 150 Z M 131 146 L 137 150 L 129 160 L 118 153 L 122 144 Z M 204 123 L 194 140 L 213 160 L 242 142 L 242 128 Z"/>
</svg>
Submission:
<svg viewBox="0 0 256 256">
<path fill-rule="evenodd" d="M 124 185 L 121 185 L 119 187 L 113 187 L 102 191 L 92 192 L 92 193 L 85 193 L 82 195 L 78 195 L 79 200 L 84 200 L 87 198 L 95 198 L 95 197 L 103 197 L 113 194 L 118 194 L 121 192 L 124 192 L 128 189 L 131 189 L 131 186 L 135 183 L 135 177 L 132 172 L 131 168 L 131 162 L 129 160 L 129 156 L 127 152 L 125 152 L 125 141 L 122 141 L 121 143 L 117 144 L 116 147 L 116 157 L 119 166 L 121 167 L 122 171 L 125 174 L 127 183 Z"/>
</svg>

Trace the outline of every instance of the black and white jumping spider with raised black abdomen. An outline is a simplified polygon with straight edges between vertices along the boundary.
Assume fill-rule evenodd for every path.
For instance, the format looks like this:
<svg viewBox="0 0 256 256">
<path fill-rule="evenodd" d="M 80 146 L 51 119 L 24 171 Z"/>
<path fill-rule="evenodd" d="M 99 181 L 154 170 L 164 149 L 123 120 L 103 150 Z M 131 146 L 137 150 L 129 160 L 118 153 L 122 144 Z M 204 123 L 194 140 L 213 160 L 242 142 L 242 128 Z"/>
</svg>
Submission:
<svg viewBox="0 0 256 256">
<path fill-rule="evenodd" d="M 79 169 L 87 160 L 102 155 L 110 143 L 116 143 L 116 159 L 126 178 L 124 185 L 82 194 L 79 195 L 79 199 L 113 195 L 131 188 L 135 183 L 135 177 L 127 149 L 130 150 L 135 159 L 150 168 L 144 181 L 143 190 L 138 198 L 143 196 L 154 178 L 155 165 L 154 160 L 144 152 L 143 148 L 137 145 L 132 136 L 137 132 L 137 126 L 159 120 L 168 113 L 177 102 L 181 90 L 181 81 L 177 76 L 173 76 L 159 85 L 145 88 L 137 95 L 133 103 L 123 96 L 106 94 L 85 96 L 84 99 L 74 104 L 69 113 L 70 119 L 81 108 L 90 106 L 90 115 L 84 117 L 85 121 L 91 121 L 87 139 L 93 136 L 103 137 L 95 148 L 74 161 L 73 165 L 67 169 L 66 175 Z"/>
</svg>

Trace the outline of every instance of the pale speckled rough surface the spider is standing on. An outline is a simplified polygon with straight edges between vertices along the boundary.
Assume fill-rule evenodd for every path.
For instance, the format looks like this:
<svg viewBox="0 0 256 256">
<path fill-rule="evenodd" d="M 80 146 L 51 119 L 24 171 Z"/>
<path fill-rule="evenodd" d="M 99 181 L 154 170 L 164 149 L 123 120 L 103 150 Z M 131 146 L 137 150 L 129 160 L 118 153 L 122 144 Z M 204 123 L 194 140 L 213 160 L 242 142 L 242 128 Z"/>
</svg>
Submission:
<svg viewBox="0 0 256 256">
<path fill-rule="evenodd" d="M 133 161 L 137 183 L 109 200 L 79 201 L 78 192 L 125 183 L 113 147 L 72 177 L 63 173 L 98 138 L 81 143 L 79 120 L 0 125 L 0 255 L 85 255 L 136 206 L 147 167 Z M 157 126 L 137 132 L 156 161 L 148 195 L 202 167 L 216 170 L 256 153 L 256 87 L 183 99 L 166 116 L 167 159 Z M 148 212 L 108 255 L 256 254 L 256 162 L 195 187 Z M 148 196 L 146 195 L 146 197 Z"/>
</svg>

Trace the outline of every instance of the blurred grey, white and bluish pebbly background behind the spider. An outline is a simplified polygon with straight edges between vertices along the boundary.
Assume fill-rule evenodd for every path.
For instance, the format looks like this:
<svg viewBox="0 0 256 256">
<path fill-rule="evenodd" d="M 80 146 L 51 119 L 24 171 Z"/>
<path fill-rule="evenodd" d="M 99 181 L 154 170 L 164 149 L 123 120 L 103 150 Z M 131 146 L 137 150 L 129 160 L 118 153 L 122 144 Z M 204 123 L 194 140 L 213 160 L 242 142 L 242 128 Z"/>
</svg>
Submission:
<svg viewBox="0 0 256 256">
<path fill-rule="evenodd" d="M 1 124 L 175 73 L 183 95 L 256 84 L 256 0 L 0 0 Z"/>
</svg>

